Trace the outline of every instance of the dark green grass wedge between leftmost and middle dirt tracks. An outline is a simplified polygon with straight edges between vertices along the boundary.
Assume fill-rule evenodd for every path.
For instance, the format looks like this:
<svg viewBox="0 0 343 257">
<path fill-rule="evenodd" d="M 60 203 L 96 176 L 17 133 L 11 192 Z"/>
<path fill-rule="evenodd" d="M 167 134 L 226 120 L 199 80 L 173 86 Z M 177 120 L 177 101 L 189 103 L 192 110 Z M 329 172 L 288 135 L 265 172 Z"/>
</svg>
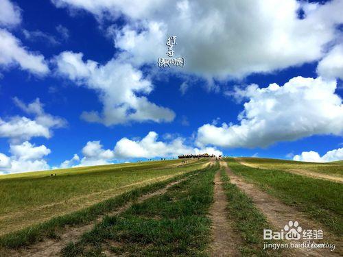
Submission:
<svg viewBox="0 0 343 257">
<path fill-rule="evenodd" d="M 211 241 L 209 207 L 218 164 L 126 212 L 106 217 L 70 243 L 64 256 L 207 256 Z"/>
</svg>

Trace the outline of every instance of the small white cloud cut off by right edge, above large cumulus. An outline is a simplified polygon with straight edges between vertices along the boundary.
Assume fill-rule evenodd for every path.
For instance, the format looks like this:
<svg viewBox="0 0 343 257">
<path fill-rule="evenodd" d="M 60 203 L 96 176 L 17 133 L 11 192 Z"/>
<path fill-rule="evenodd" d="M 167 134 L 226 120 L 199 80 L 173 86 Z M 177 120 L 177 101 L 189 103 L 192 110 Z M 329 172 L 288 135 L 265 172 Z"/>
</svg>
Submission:
<svg viewBox="0 0 343 257">
<path fill-rule="evenodd" d="M 318 63 L 317 73 L 322 77 L 343 79 L 343 44 L 336 45 Z"/>
</svg>

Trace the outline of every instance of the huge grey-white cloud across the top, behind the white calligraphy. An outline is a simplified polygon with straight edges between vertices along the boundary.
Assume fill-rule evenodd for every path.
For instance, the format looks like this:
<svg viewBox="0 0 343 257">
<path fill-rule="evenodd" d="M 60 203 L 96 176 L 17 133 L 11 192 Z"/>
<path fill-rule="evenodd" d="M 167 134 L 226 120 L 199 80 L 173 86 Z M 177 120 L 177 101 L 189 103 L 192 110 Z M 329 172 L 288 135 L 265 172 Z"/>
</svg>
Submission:
<svg viewBox="0 0 343 257">
<path fill-rule="evenodd" d="M 244 77 L 318 60 L 327 43 L 337 39 L 336 25 L 343 22 L 340 0 L 53 2 L 99 19 L 126 16 L 127 24 L 114 33 L 115 46 L 135 63 L 165 56 L 167 35 L 176 35 L 176 53 L 187 60 L 180 71 L 203 77 Z"/>
</svg>

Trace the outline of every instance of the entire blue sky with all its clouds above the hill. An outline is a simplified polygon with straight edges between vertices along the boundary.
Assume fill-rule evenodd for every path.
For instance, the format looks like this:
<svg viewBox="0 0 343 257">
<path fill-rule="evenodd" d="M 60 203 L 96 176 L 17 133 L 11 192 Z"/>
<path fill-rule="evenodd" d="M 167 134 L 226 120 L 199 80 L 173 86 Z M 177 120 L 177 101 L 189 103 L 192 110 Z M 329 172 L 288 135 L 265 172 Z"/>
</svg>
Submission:
<svg viewBox="0 0 343 257">
<path fill-rule="evenodd" d="M 343 158 L 342 1 L 0 7 L 3 173 L 202 151 Z M 157 67 L 168 35 L 183 68 Z"/>
</svg>

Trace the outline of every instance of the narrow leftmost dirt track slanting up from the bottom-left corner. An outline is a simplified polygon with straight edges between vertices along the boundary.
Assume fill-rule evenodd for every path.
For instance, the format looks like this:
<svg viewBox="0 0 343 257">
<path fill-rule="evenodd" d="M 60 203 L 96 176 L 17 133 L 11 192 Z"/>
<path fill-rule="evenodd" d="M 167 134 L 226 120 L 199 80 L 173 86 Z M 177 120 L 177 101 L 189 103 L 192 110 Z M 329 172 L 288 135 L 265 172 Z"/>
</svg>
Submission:
<svg viewBox="0 0 343 257">
<path fill-rule="evenodd" d="M 160 189 L 158 191 L 155 191 L 153 193 L 143 195 L 142 197 L 139 197 L 139 199 L 137 199 L 137 201 L 134 201 L 134 202 L 140 203 L 140 202 L 142 202 L 145 199 L 148 199 L 150 197 L 154 197 L 156 195 L 162 195 L 162 194 L 166 193 L 168 188 L 170 188 L 171 186 L 174 186 L 175 184 L 178 184 L 178 183 L 180 183 L 186 179 L 187 178 L 183 178 L 182 180 L 178 180 L 176 182 L 171 182 L 171 183 L 167 184 L 167 186 L 165 186 L 165 188 Z M 118 208 L 117 210 L 115 210 L 113 212 L 106 213 L 106 215 L 108 215 L 108 216 L 119 215 L 121 212 L 124 212 L 125 210 L 130 208 L 130 206 L 132 206 L 132 204 L 133 204 L 133 202 L 130 202 L 130 203 L 126 204 L 125 206 L 122 206 L 121 208 Z M 70 228 L 70 227 L 66 228 L 64 230 L 64 232 L 62 232 L 62 234 L 59 234 L 60 238 L 58 240 L 47 238 L 44 241 L 36 243 L 35 245 L 29 246 L 25 249 L 19 249 L 18 251 L 9 250 L 8 254 L 6 254 L 6 256 L 11 256 L 11 257 L 59 256 L 61 250 L 68 243 L 70 243 L 70 242 L 75 243 L 76 241 L 78 241 L 78 239 L 80 238 L 80 236 L 82 236 L 82 234 L 91 230 L 93 228 L 93 226 L 95 225 L 95 223 L 99 223 L 100 221 L 102 221 L 102 218 L 104 216 L 105 215 L 98 217 L 96 221 L 94 221 L 93 223 L 87 224 L 87 225 L 82 225 L 82 226 L 73 227 L 73 228 Z M 0 252 L 0 254 L 1 254 L 1 252 Z"/>
</svg>

